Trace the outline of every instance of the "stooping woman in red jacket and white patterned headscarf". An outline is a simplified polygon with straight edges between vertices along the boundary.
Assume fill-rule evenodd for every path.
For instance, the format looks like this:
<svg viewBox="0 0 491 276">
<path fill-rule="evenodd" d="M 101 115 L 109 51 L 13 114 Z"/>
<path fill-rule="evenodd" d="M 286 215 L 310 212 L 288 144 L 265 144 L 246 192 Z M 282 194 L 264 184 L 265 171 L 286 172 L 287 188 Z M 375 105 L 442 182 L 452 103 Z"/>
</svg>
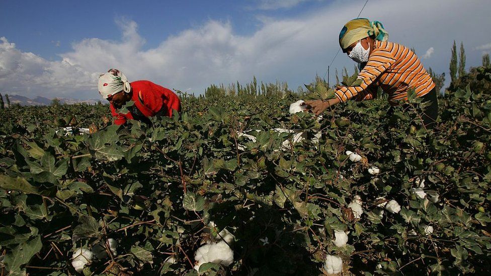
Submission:
<svg viewBox="0 0 491 276">
<path fill-rule="evenodd" d="M 172 90 L 148 80 L 129 82 L 117 69 L 110 69 L 99 76 L 98 88 L 101 96 L 109 101 L 117 125 L 126 123 L 126 120 L 148 123 L 149 117 L 172 117 L 173 110 L 181 112 L 181 101 Z M 127 108 L 128 113 L 120 113 L 119 109 L 128 101 L 133 101 L 134 105 Z"/>
</svg>

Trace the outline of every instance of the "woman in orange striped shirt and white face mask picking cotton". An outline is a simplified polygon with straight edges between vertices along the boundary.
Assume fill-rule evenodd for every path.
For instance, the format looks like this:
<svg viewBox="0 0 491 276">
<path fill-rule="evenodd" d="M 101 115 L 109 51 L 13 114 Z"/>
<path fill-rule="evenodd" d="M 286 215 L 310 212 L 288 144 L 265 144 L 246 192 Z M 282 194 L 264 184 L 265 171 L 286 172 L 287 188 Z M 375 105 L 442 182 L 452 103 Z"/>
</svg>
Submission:
<svg viewBox="0 0 491 276">
<path fill-rule="evenodd" d="M 407 100 L 407 91 L 415 89 L 416 96 L 430 102 L 423 114 L 427 127 L 432 127 L 438 116 L 435 83 L 416 54 L 407 47 L 387 41 L 388 34 L 378 21 L 357 18 L 348 22 L 339 35 L 343 53 L 360 66 L 359 86 L 338 86 L 336 98 L 329 101 L 307 101 L 315 114 L 349 99 L 365 101 L 376 98 L 377 88 L 389 95 L 393 106 Z"/>
</svg>

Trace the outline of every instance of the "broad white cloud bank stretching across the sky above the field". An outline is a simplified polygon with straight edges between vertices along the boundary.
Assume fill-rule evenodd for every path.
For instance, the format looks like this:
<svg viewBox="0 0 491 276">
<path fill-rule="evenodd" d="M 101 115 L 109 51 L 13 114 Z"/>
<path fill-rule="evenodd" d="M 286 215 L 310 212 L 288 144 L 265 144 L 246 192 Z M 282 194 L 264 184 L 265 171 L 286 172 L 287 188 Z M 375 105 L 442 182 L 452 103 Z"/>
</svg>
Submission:
<svg viewBox="0 0 491 276">
<path fill-rule="evenodd" d="M 22 52 L 2 38 L 0 90 L 25 96 L 47 96 L 49 91 L 52 97 L 97 98 L 97 77 L 109 68 L 121 69 L 130 81 L 148 79 L 196 94 L 211 83 L 243 83 L 253 75 L 268 82 L 288 81 L 296 87 L 310 82 L 316 73 L 324 75 L 338 51 L 340 29 L 363 4 L 334 2 L 296 18 L 269 18 L 251 35 L 238 35 L 230 22 L 210 20 L 149 49 L 143 47 L 145 39 L 139 35 L 137 23 L 120 20 L 120 40 L 87 38 L 75 42 L 69 52 L 59 54 L 59 61 Z M 457 0 L 373 0 L 362 16 L 383 22 L 389 40 L 415 47 L 417 52 L 428 49 L 422 57 L 432 58 L 425 60 L 424 66 L 443 72 L 448 68 L 453 40 L 487 45 L 491 34 L 486 26 L 491 25 L 491 19 L 485 4 L 484 0 L 464 6 Z M 401 15 L 401 10 L 407 16 Z M 457 11 L 464 20 L 452 19 Z M 480 56 L 468 52 L 467 63 L 480 63 Z M 352 70 L 354 63 L 340 53 L 331 67 L 331 79 L 334 68 L 343 66 Z"/>
</svg>

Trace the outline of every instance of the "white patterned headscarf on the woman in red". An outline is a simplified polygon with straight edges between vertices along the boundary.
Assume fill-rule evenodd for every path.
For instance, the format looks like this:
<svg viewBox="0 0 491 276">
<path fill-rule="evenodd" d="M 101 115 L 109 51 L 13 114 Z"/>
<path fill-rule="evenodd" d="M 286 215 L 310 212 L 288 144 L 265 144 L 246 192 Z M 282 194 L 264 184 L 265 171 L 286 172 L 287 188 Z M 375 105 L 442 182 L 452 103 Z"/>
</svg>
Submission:
<svg viewBox="0 0 491 276">
<path fill-rule="evenodd" d="M 131 85 L 126 78 L 126 76 L 118 69 L 109 69 L 109 71 L 105 74 L 99 76 L 99 94 L 104 99 L 107 99 L 114 94 L 125 91 L 126 93 L 130 93 Z"/>
</svg>

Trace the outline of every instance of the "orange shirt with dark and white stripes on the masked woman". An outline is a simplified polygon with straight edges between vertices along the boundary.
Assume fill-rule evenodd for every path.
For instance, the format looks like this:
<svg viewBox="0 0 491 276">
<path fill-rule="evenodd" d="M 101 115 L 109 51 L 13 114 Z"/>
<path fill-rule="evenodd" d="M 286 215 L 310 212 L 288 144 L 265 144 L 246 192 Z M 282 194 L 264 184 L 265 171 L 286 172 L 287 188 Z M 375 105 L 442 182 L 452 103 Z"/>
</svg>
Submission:
<svg viewBox="0 0 491 276">
<path fill-rule="evenodd" d="M 388 41 L 374 42 L 374 49 L 365 67 L 358 74 L 360 86 L 344 86 L 336 90 L 336 96 L 345 102 L 371 100 L 377 87 L 389 95 L 392 105 L 407 100 L 407 90 L 414 88 L 417 97 L 426 95 L 433 87 L 433 79 L 416 54 L 407 47 Z"/>
</svg>

